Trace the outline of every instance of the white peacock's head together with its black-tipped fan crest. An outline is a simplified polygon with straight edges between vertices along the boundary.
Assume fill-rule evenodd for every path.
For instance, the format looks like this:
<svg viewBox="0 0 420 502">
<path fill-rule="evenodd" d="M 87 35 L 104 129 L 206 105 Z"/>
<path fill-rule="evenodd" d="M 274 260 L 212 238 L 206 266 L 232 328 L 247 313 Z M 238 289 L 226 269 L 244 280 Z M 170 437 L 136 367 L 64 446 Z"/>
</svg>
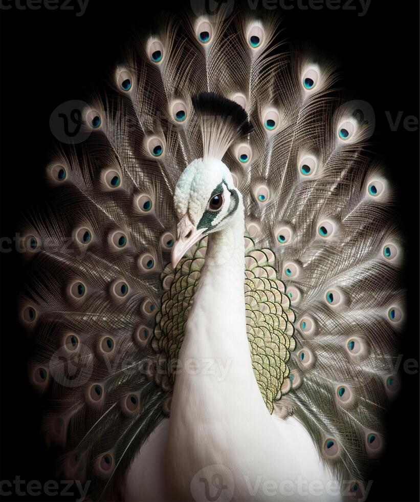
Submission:
<svg viewBox="0 0 420 502">
<path fill-rule="evenodd" d="M 172 247 L 175 267 L 204 235 L 226 227 L 234 218 L 241 195 L 222 158 L 230 145 L 252 130 L 247 112 L 214 93 L 193 96 L 192 104 L 203 138 L 203 158 L 193 160 L 175 187 L 178 239 Z"/>
</svg>

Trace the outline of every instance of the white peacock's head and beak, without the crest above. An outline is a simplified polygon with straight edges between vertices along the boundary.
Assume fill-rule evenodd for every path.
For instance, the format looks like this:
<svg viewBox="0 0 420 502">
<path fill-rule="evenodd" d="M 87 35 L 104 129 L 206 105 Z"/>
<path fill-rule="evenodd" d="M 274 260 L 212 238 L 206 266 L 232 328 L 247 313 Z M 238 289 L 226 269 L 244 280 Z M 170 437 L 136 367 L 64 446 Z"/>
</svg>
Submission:
<svg viewBox="0 0 420 502">
<path fill-rule="evenodd" d="M 173 198 L 178 216 L 178 239 L 172 247 L 172 266 L 205 235 L 229 225 L 242 196 L 221 160 L 195 159 L 182 173 Z"/>
</svg>

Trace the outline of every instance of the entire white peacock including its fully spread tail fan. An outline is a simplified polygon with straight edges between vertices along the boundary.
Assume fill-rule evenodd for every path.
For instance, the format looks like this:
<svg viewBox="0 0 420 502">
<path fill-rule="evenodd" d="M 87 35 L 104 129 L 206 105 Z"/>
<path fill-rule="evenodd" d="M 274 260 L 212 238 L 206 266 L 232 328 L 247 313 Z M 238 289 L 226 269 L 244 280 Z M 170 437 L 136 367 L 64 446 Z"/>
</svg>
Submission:
<svg viewBox="0 0 420 502">
<path fill-rule="evenodd" d="M 362 499 L 399 389 L 395 195 L 334 65 L 224 17 L 134 44 L 25 218 L 46 441 L 92 499 Z"/>
</svg>

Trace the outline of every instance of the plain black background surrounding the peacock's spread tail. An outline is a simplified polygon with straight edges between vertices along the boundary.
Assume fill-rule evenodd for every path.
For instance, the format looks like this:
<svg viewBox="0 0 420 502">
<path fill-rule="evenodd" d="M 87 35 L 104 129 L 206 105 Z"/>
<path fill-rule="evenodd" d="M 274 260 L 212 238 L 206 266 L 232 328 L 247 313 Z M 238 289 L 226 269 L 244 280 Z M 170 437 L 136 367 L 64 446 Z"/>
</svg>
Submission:
<svg viewBox="0 0 420 502">
<path fill-rule="evenodd" d="M 84 87 L 113 68 L 132 28 L 147 29 L 151 16 L 181 5 L 174 4 L 90 0 L 85 14 L 77 17 L 75 11 L 19 10 L 13 1 L 12 9 L 0 11 L 2 237 L 13 237 L 19 213 L 44 196 L 43 172 L 53 140 L 51 112 L 61 102 L 84 95 Z M 364 16 L 358 15 L 356 0 L 350 6 L 357 10 L 302 10 L 292 0 L 286 4 L 296 7 L 284 11 L 285 36 L 334 56 L 343 72 L 340 83 L 374 109 L 374 149 L 387 160 L 391 180 L 403 194 L 402 220 L 408 238 L 409 322 L 401 353 L 403 363 L 418 361 L 418 131 L 403 125 L 406 116 L 418 118 L 418 3 L 372 0 Z M 386 112 L 395 119 L 399 111 L 403 119 L 392 131 Z M 19 475 L 44 483 L 54 479 L 54 471 L 38 432 L 39 398 L 26 380 L 27 336 L 16 321 L 20 256 L 2 253 L 1 259 L 1 478 L 13 480 Z M 403 390 L 389 412 L 388 449 L 369 500 L 419 500 L 418 373 L 403 372 L 402 380 Z"/>
</svg>

